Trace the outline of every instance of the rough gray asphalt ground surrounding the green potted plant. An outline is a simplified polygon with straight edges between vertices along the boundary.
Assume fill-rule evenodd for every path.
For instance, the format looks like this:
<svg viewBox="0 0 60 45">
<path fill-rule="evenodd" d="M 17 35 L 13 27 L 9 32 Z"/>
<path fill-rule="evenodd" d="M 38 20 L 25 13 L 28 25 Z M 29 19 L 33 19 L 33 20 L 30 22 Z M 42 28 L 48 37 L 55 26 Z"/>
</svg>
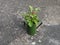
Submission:
<svg viewBox="0 0 60 45">
<path fill-rule="evenodd" d="M 21 16 L 29 5 L 41 8 L 43 22 L 33 37 Z M 0 0 L 0 45 L 60 45 L 60 0 Z"/>
</svg>

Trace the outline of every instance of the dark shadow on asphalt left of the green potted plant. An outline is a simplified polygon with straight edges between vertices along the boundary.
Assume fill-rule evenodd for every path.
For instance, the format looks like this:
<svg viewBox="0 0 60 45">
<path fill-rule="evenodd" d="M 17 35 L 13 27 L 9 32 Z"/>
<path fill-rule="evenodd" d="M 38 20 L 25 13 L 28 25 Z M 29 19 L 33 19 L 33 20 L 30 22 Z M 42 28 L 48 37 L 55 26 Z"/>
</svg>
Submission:
<svg viewBox="0 0 60 45">
<path fill-rule="evenodd" d="M 0 38 L 0 45 L 8 45 L 17 37 L 21 37 L 26 33 L 26 28 L 21 18 L 18 19 L 16 15 L 11 15 L 10 18 L 13 21 L 12 23 L 7 22 L 8 25 L 5 24 L 5 26 L 3 26 L 4 24 L 1 24 L 0 26 L 0 36 L 2 37 Z"/>
</svg>

